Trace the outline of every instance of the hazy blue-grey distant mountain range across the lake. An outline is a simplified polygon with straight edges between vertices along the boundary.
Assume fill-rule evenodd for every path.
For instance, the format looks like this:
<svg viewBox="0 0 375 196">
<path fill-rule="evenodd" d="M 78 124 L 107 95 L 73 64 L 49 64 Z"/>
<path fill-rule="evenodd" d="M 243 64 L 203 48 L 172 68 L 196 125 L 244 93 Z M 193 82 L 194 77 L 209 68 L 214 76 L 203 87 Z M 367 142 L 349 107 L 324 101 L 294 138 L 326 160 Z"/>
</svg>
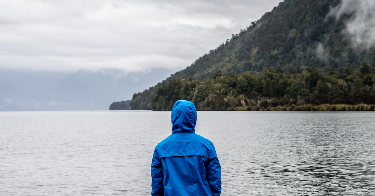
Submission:
<svg viewBox="0 0 375 196">
<path fill-rule="evenodd" d="M 130 100 L 133 93 L 171 72 L 161 68 L 127 74 L 119 69 L 73 73 L 0 69 L 0 111 L 108 110 L 113 101 Z"/>
</svg>

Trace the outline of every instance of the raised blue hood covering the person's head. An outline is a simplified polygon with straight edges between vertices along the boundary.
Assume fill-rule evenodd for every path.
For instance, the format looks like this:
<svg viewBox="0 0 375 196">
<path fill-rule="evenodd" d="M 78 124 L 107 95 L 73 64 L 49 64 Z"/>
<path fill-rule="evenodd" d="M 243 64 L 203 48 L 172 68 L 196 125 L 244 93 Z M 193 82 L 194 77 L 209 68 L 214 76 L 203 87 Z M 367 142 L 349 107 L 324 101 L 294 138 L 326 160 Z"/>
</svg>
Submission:
<svg viewBox="0 0 375 196">
<path fill-rule="evenodd" d="M 178 100 L 172 108 L 172 133 L 176 131 L 195 131 L 196 109 L 191 101 Z"/>
</svg>

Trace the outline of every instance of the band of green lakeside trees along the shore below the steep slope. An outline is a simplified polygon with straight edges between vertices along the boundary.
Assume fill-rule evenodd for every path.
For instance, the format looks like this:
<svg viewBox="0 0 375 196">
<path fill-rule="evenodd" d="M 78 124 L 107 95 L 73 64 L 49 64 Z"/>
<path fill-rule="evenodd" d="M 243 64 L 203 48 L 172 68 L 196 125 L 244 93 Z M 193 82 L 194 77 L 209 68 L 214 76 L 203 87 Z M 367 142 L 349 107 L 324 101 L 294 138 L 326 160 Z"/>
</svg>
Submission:
<svg viewBox="0 0 375 196">
<path fill-rule="evenodd" d="M 305 67 L 298 73 L 293 66 L 286 73 L 281 66 L 243 74 L 223 75 L 218 70 L 204 80 L 174 78 L 159 83 L 152 89 L 148 108 L 171 110 L 175 101 L 190 100 L 197 110 L 374 110 L 374 79 L 375 69 L 367 62 L 357 70 L 328 72 Z M 141 103 L 137 96 L 133 109 Z"/>
</svg>

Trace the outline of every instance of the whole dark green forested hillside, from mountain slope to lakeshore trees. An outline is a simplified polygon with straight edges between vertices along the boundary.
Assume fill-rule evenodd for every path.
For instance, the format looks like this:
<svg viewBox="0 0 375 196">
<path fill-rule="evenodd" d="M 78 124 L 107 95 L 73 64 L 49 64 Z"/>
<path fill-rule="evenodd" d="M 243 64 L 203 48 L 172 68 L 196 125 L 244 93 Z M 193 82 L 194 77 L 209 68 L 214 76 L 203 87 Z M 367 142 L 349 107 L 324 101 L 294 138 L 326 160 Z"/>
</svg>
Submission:
<svg viewBox="0 0 375 196">
<path fill-rule="evenodd" d="M 133 110 L 170 110 L 175 100 L 188 99 L 195 101 L 200 110 L 231 110 L 244 104 L 241 101 L 241 105 L 233 105 L 228 99 L 243 100 L 248 107 L 250 102 L 267 98 L 299 100 L 321 94 L 345 100 L 349 94 L 374 96 L 375 48 L 351 44 L 345 34 L 345 23 L 354 13 L 339 17 L 332 14 L 332 8 L 339 3 L 339 0 L 285 0 L 186 69 L 142 93 L 135 93 L 130 105 Z M 359 75 L 361 72 L 357 70 L 365 65 L 371 72 Z M 232 80 L 232 83 L 216 80 Z M 341 91 L 330 89 L 344 85 L 343 82 L 350 87 Z M 365 83 L 368 87 L 363 86 Z M 352 88 L 353 85 L 356 87 Z M 181 89 L 175 91 L 176 86 Z M 226 103 L 220 102 L 222 99 Z M 212 104 L 223 105 L 213 106 L 208 104 L 210 100 Z M 366 99 L 358 100 L 367 103 Z M 338 100 L 324 103 L 336 102 L 347 103 Z"/>
</svg>

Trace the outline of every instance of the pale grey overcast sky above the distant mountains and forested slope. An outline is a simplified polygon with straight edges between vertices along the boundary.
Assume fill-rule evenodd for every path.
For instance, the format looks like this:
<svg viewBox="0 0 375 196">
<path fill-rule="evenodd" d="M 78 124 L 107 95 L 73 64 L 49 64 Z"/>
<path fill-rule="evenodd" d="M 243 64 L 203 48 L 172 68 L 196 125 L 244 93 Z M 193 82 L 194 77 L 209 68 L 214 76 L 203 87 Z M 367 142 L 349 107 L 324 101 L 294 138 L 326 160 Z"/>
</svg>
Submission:
<svg viewBox="0 0 375 196">
<path fill-rule="evenodd" d="M 281 0 L 1 0 L 0 68 L 186 68 Z"/>
</svg>

